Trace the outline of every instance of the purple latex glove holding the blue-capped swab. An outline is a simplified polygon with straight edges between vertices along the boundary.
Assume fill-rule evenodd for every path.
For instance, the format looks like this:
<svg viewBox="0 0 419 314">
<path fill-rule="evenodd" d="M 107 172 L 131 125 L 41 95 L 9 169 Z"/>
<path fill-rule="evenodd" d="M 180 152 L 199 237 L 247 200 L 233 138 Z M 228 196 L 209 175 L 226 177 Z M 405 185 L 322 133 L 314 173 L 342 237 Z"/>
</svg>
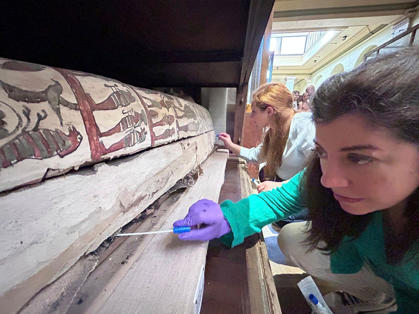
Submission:
<svg viewBox="0 0 419 314">
<path fill-rule="evenodd" d="M 201 229 L 192 229 L 189 232 L 181 233 L 178 235 L 179 239 L 209 241 L 230 232 L 230 224 L 224 218 L 220 205 L 205 198 L 189 207 L 186 217 L 175 221 L 173 226 L 192 227 L 198 224 L 205 224 L 205 226 L 201 226 Z"/>
</svg>

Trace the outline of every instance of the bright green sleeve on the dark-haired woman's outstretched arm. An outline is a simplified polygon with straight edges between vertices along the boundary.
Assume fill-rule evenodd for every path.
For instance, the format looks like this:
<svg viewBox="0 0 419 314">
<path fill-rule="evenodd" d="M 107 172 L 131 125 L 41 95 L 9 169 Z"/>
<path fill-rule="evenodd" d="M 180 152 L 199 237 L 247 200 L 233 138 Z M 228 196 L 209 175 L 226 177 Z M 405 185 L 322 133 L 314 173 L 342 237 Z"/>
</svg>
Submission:
<svg viewBox="0 0 419 314">
<path fill-rule="evenodd" d="M 267 224 L 305 209 L 299 188 L 302 173 L 297 173 L 288 183 L 275 190 L 252 194 L 237 203 L 222 202 L 221 210 L 230 224 L 231 232 L 220 240 L 228 247 L 234 247 L 242 243 L 245 237 L 261 232 Z"/>
</svg>

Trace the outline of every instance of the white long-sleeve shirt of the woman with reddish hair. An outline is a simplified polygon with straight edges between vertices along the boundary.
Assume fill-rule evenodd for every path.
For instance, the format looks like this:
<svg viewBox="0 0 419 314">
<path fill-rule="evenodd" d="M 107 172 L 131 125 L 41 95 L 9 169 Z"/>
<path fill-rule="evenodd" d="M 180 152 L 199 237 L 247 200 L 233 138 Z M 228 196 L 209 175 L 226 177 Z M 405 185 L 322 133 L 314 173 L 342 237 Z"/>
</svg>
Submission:
<svg viewBox="0 0 419 314">
<path fill-rule="evenodd" d="M 314 146 L 316 127 L 312 121 L 311 112 L 295 113 L 291 120 L 290 134 L 282 154 L 282 165 L 277 168 L 277 175 L 282 180 L 288 180 L 303 170 L 307 157 Z M 240 149 L 239 157 L 248 162 L 265 162 L 261 155 L 262 145 Z"/>
</svg>

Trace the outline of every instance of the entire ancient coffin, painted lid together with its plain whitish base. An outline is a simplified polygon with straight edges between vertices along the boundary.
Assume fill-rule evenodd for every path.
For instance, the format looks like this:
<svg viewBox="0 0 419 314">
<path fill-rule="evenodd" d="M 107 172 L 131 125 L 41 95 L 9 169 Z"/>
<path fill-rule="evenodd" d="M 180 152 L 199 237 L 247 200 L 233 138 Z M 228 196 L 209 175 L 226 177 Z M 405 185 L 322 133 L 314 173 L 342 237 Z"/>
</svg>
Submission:
<svg viewBox="0 0 419 314">
<path fill-rule="evenodd" d="M 71 298 L 61 298 L 77 285 L 62 287 L 58 299 L 39 293 L 82 274 L 74 269 L 85 261 L 87 275 L 98 264 L 90 254 L 150 215 L 147 206 L 213 147 L 212 120 L 196 103 L 0 59 L 0 313 L 66 313 Z"/>
</svg>

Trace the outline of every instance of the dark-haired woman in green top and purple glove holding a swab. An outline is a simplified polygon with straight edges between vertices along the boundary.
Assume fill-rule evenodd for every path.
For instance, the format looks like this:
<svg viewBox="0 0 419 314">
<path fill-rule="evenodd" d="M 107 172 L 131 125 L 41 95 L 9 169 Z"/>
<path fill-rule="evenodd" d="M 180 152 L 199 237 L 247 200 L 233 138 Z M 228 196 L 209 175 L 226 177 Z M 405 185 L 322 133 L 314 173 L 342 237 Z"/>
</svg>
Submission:
<svg viewBox="0 0 419 314">
<path fill-rule="evenodd" d="M 334 313 L 419 313 L 419 50 L 375 57 L 323 82 L 311 103 L 316 152 L 282 187 L 221 205 L 201 200 L 180 239 L 228 246 L 308 207 L 279 247 L 327 283 Z M 344 310 L 345 309 L 345 310 Z"/>
</svg>

